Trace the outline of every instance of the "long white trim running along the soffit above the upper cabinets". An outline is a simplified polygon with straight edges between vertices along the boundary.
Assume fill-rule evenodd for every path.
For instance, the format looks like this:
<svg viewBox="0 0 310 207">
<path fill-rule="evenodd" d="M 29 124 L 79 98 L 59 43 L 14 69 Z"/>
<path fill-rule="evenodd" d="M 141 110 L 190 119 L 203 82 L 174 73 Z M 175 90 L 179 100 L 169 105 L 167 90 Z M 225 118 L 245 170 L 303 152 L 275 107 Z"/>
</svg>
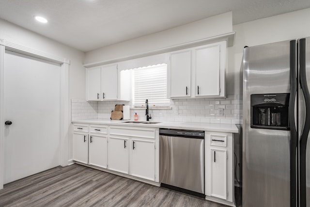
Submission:
<svg viewBox="0 0 310 207">
<path fill-rule="evenodd" d="M 215 42 L 219 42 L 219 41 L 223 41 L 223 40 L 227 40 L 227 47 L 232 47 L 234 44 L 235 34 L 236 34 L 236 32 L 225 33 L 225 34 L 221 34 L 221 35 L 217 35 L 217 36 L 213 36 L 213 37 L 207 37 L 204 39 L 194 40 L 194 41 L 190 41 L 190 42 L 186 42 L 186 43 L 182 43 L 182 44 L 178 44 L 178 45 L 172 45 L 172 46 L 168 46 L 165 48 L 158 48 L 155 50 L 151 50 L 151 51 L 147 51 L 147 52 L 143 52 L 143 53 L 138 53 L 138 54 L 134 54 L 134 55 L 129 55 L 129 56 L 125 56 L 125 57 L 115 58 L 115 59 L 111 59 L 111 60 L 107 60 L 107 61 L 100 61 L 100 62 L 96 62 L 96 63 L 84 64 L 83 66 L 89 68 L 89 67 L 95 67 L 95 66 L 100 66 L 100 65 L 104 65 L 104 64 L 113 64 L 113 63 L 131 60 L 131 59 L 147 57 L 150 55 L 157 55 L 157 54 L 172 52 L 172 51 L 176 51 L 176 50 L 180 50 L 180 49 L 193 48 L 193 47 L 202 46 L 202 45 L 206 45 L 206 44 L 210 44 L 210 43 L 215 43 Z"/>
</svg>

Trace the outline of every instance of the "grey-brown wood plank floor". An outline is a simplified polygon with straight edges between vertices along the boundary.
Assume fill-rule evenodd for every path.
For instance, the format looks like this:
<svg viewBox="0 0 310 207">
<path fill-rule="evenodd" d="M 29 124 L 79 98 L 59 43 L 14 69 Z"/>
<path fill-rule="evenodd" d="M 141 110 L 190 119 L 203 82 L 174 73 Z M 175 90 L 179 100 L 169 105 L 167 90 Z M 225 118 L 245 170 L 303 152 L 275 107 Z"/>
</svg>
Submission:
<svg viewBox="0 0 310 207">
<path fill-rule="evenodd" d="M 225 207 L 185 193 L 73 164 L 4 185 L 0 207 Z"/>
</svg>

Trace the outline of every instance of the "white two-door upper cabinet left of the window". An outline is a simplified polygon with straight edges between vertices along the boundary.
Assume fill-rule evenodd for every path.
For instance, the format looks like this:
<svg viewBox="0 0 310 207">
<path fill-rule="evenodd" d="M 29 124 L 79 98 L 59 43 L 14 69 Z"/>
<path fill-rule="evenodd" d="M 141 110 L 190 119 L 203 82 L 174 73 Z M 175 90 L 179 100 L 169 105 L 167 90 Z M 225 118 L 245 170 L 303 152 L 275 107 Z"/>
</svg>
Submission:
<svg viewBox="0 0 310 207">
<path fill-rule="evenodd" d="M 129 76 L 129 75 L 128 75 Z M 119 76 L 117 64 L 102 65 L 86 69 L 87 101 L 130 100 L 130 79 Z M 120 80 L 120 81 L 119 81 Z M 124 85 L 124 83 L 126 85 Z M 125 90 L 125 91 L 124 91 Z M 122 95 L 122 96 L 121 96 Z"/>
</svg>

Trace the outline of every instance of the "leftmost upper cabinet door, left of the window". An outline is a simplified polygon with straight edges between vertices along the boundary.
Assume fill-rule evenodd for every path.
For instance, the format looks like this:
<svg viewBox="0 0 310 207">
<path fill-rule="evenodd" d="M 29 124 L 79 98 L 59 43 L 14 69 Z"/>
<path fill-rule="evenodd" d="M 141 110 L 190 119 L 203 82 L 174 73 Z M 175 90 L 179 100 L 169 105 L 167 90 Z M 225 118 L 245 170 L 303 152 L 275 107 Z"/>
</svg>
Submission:
<svg viewBox="0 0 310 207">
<path fill-rule="evenodd" d="M 87 68 L 87 100 L 88 101 L 98 101 L 101 99 L 100 89 L 101 89 L 101 68 L 93 67 Z"/>
</svg>

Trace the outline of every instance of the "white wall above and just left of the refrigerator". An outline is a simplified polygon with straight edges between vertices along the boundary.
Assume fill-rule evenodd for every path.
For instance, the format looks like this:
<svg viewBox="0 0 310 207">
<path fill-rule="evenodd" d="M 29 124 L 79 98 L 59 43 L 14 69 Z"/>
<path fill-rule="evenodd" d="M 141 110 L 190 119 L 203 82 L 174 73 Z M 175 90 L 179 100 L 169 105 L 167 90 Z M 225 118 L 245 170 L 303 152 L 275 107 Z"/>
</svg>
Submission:
<svg viewBox="0 0 310 207">
<path fill-rule="evenodd" d="M 228 48 L 228 94 L 239 94 L 243 48 L 310 36 L 310 8 L 233 25 L 235 44 Z"/>
</svg>

